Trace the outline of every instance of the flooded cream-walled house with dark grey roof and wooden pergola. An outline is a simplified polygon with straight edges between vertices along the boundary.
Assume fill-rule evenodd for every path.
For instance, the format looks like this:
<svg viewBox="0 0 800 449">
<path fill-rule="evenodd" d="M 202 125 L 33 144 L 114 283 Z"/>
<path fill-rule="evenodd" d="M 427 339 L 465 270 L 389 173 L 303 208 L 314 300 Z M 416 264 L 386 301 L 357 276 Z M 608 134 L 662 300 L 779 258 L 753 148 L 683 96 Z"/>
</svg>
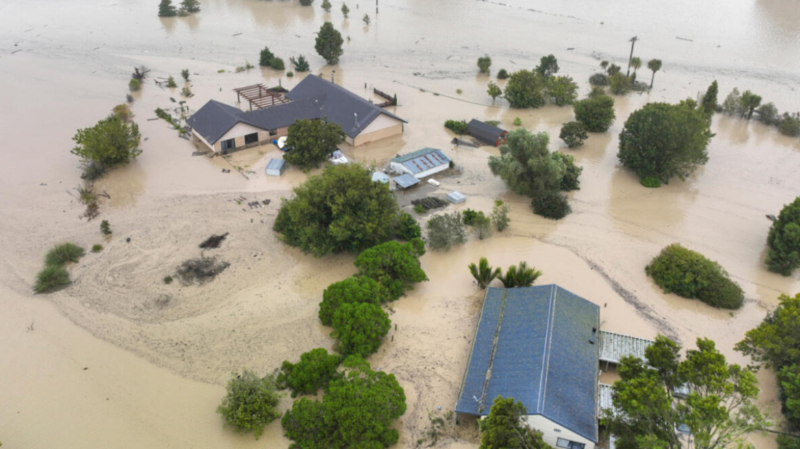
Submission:
<svg viewBox="0 0 800 449">
<path fill-rule="evenodd" d="M 315 75 L 306 76 L 288 93 L 252 85 L 236 89 L 250 109 L 210 100 L 187 120 L 198 149 L 212 153 L 264 145 L 285 136 L 294 121 L 323 119 L 342 126 L 350 145 L 366 145 L 402 134 L 407 121 L 355 93 Z"/>
</svg>

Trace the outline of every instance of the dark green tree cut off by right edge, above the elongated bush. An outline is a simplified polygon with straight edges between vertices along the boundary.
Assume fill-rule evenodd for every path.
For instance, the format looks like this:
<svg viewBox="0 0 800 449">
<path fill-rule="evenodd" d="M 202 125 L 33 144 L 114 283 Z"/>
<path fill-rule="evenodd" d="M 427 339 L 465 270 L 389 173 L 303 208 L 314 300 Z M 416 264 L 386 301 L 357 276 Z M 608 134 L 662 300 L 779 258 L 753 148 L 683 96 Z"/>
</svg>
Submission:
<svg viewBox="0 0 800 449">
<path fill-rule="evenodd" d="M 783 206 L 766 237 L 766 265 L 771 272 L 791 276 L 800 268 L 800 197 Z"/>
</svg>

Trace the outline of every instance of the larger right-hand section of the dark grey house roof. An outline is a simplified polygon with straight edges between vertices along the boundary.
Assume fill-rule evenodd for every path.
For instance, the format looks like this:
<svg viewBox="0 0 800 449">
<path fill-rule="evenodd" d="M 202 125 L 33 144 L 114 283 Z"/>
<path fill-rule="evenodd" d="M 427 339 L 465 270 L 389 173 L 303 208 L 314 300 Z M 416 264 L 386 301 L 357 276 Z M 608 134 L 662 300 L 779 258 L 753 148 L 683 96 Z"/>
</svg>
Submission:
<svg viewBox="0 0 800 449">
<path fill-rule="evenodd" d="M 327 117 L 328 121 L 342 125 L 342 131 L 350 137 L 358 136 L 362 129 L 382 113 L 407 123 L 393 113 L 378 108 L 355 93 L 316 75 L 307 75 L 286 97 L 292 101 L 318 98 L 322 104 L 319 118 Z M 358 126 L 355 124 L 354 114 L 358 114 Z"/>
</svg>

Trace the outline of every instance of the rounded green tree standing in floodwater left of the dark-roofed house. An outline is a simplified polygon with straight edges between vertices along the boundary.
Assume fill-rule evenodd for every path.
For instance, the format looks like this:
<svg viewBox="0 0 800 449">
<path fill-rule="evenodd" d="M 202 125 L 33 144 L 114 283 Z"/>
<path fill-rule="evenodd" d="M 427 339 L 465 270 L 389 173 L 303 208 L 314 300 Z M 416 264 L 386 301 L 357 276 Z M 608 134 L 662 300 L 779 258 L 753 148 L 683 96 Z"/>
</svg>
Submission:
<svg viewBox="0 0 800 449">
<path fill-rule="evenodd" d="M 72 137 L 77 145 L 71 153 L 80 157 L 85 164 L 102 167 L 127 164 L 142 154 L 142 149 L 139 149 L 140 138 L 138 125 L 129 125 L 111 115 L 91 128 L 78 129 L 78 133 Z"/>
</svg>

